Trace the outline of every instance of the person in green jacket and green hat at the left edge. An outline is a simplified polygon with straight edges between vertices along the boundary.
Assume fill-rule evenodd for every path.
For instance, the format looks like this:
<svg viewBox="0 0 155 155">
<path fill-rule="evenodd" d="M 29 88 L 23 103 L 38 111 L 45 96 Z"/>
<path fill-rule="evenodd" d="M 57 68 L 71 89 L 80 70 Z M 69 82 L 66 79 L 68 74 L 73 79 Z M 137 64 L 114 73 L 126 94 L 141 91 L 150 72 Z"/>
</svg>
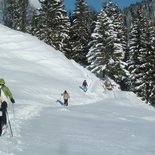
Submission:
<svg viewBox="0 0 155 155">
<path fill-rule="evenodd" d="M 10 100 L 15 103 L 10 89 L 5 85 L 4 79 L 0 79 L 0 136 L 2 134 L 2 129 L 7 125 L 7 102 Z"/>
</svg>

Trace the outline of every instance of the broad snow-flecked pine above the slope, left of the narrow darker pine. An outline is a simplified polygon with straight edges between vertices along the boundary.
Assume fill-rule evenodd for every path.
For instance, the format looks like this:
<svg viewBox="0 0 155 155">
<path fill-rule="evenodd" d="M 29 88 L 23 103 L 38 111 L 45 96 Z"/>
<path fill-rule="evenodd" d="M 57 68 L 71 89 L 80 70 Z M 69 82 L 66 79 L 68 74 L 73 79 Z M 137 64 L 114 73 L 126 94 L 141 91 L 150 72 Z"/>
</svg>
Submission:
<svg viewBox="0 0 155 155">
<path fill-rule="evenodd" d="M 44 0 L 32 21 L 32 34 L 54 48 L 64 51 L 69 33 L 69 19 L 63 1 Z"/>
</svg>

